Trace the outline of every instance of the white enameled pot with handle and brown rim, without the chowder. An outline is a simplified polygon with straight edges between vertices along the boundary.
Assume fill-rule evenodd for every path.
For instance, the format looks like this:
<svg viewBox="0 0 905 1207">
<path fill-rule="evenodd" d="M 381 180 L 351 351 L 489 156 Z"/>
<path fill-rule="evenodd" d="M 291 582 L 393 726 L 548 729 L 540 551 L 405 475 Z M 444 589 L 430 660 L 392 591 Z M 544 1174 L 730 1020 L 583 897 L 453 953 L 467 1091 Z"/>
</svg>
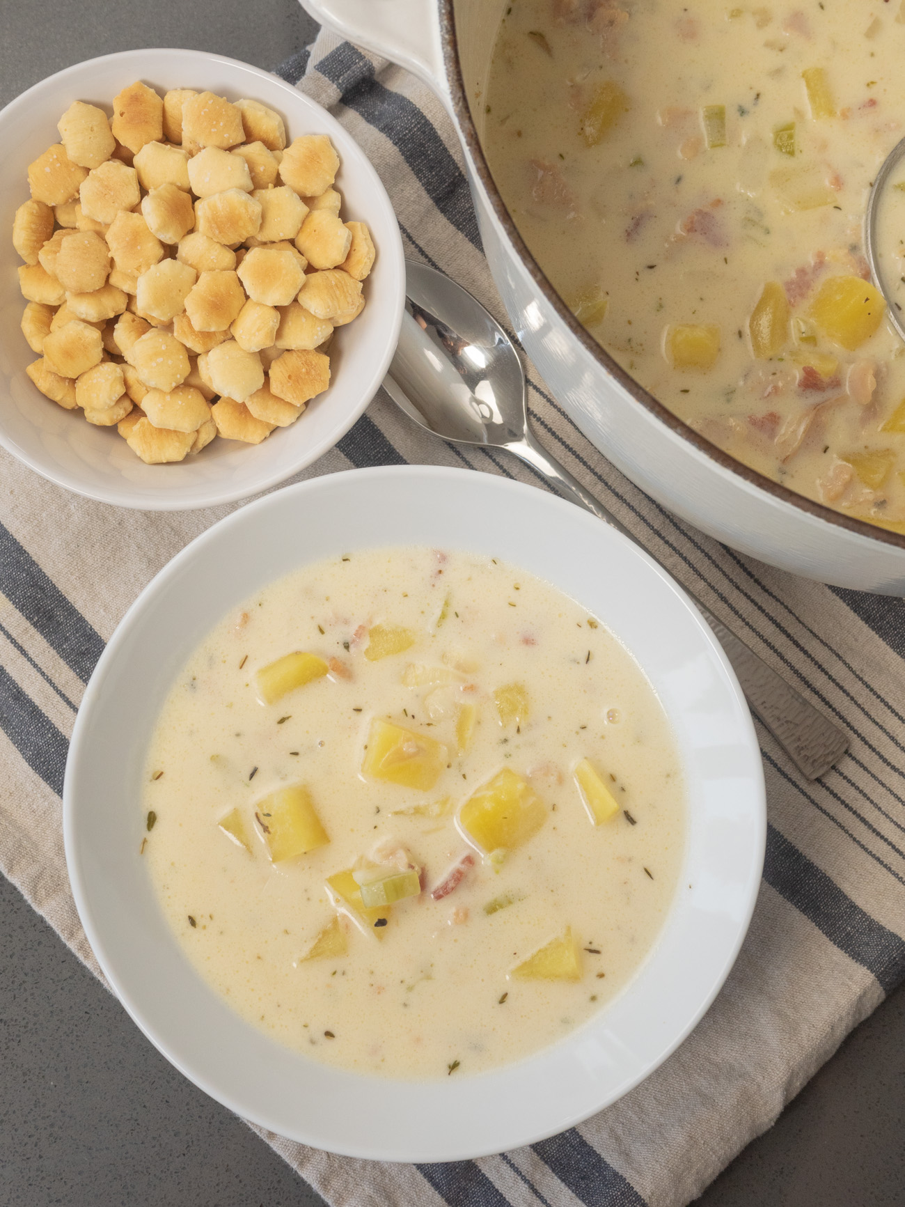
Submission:
<svg viewBox="0 0 905 1207">
<path fill-rule="evenodd" d="M 433 88 L 465 151 L 484 251 L 525 350 L 584 435 L 682 519 L 743 553 L 840 587 L 905 594 L 905 537 L 813 503 L 694 432 L 574 320 L 525 246 L 480 145 L 480 109 L 506 0 L 302 0 L 317 21 Z"/>
</svg>

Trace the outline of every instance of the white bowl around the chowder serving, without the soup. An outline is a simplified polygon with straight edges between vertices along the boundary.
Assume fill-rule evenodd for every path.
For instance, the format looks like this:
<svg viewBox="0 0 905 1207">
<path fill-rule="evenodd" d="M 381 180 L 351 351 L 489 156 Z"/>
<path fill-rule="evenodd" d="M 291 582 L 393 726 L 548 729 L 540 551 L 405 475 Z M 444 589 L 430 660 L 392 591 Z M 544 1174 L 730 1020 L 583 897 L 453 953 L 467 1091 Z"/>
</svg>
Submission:
<svg viewBox="0 0 905 1207">
<path fill-rule="evenodd" d="M 316 524 L 308 523 L 310 515 Z M 235 1014 L 189 966 L 139 850 L 148 737 L 211 626 L 253 591 L 337 552 L 387 544 L 500 555 L 599 616 L 675 729 L 689 798 L 676 899 L 625 990 L 559 1043 L 474 1077 L 402 1081 L 315 1063 Z M 504 478 L 404 466 L 315 478 L 258 500 L 182 550 L 106 647 L 63 793 L 78 914 L 121 1002 L 197 1085 L 281 1136 L 351 1156 L 454 1161 L 518 1148 L 615 1101 L 685 1038 L 748 927 L 764 861 L 760 752 L 701 616 L 637 546 L 572 503 Z"/>
</svg>

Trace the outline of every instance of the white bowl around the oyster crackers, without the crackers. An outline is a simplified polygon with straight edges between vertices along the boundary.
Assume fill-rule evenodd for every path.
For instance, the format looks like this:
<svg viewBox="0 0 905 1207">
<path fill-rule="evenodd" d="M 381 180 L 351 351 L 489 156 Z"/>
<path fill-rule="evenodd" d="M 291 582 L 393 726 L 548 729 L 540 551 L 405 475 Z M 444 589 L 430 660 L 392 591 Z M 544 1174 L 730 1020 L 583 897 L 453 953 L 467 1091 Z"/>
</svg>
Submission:
<svg viewBox="0 0 905 1207">
<path fill-rule="evenodd" d="M 228 100 L 250 97 L 282 115 L 288 138 L 328 134 L 341 167 L 337 187 L 344 218 L 367 222 L 376 261 L 364 282 L 367 305 L 337 332 L 329 390 L 309 403 L 291 427 L 261 444 L 215 441 L 179 465 L 145 465 L 113 428 L 93 427 L 81 412 L 45 398 L 25 375 L 35 352 L 19 330 L 25 301 L 12 246 L 16 209 L 28 199 L 27 170 L 52 142 L 57 122 L 74 100 L 99 105 L 142 80 L 158 92 L 210 89 Z M 77 63 L 29 88 L 0 112 L 0 444 L 60 486 L 117 507 L 185 511 L 212 507 L 267 490 L 316 461 L 345 435 L 374 397 L 396 349 L 405 297 L 405 266 L 390 198 L 367 156 L 320 105 L 247 63 L 203 51 L 125 51 Z"/>
</svg>

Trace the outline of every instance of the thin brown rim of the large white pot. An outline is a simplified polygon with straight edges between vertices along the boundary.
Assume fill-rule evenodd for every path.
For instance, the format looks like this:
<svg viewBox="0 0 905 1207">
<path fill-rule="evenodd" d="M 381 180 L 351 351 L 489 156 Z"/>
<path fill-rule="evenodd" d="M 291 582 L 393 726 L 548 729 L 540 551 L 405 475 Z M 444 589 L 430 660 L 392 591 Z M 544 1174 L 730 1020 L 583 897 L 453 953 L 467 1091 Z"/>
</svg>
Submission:
<svg viewBox="0 0 905 1207">
<path fill-rule="evenodd" d="M 772 478 L 767 478 L 763 473 L 758 473 L 757 470 L 752 470 L 743 462 L 737 461 L 734 456 L 724 453 L 723 449 L 712 444 L 708 439 L 684 422 L 684 420 L 679 419 L 678 415 L 673 415 L 671 410 L 667 410 L 666 407 L 664 407 L 661 402 L 658 402 L 652 393 L 648 393 L 647 390 L 640 386 L 638 383 L 613 360 L 606 349 L 601 348 L 601 345 L 588 334 L 585 328 L 580 322 L 578 322 L 556 290 L 554 290 L 553 285 L 550 285 L 543 269 L 529 251 L 527 244 L 519 234 L 515 223 L 509 216 L 509 211 L 506 208 L 503 198 L 494 182 L 487 161 L 484 158 L 484 150 L 480 145 L 480 140 L 478 139 L 474 121 L 472 119 L 472 111 L 465 88 L 465 80 L 462 78 L 462 69 L 459 63 L 454 0 L 438 0 L 438 4 L 440 13 L 440 46 L 443 48 L 443 59 L 446 68 L 446 81 L 449 83 L 449 92 L 453 100 L 453 110 L 456 115 L 456 119 L 459 121 L 459 128 L 472 157 L 472 162 L 474 163 L 478 179 L 484 186 L 484 189 L 490 199 L 490 204 L 494 206 L 494 212 L 500 220 L 509 241 L 518 252 L 522 263 L 531 273 L 537 288 L 543 293 L 562 322 L 572 332 L 574 338 L 584 346 L 585 351 L 590 352 L 595 360 L 600 361 L 607 372 L 629 391 L 637 403 L 654 414 L 661 424 L 665 424 L 666 427 L 676 432 L 677 436 L 681 436 L 683 439 L 688 441 L 689 444 L 693 444 L 706 456 L 711 457 L 712 461 L 716 461 L 724 468 L 736 473 L 740 478 L 745 478 L 746 482 L 749 482 L 753 486 L 758 486 L 760 490 L 772 495 L 775 498 L 780 498 L 784 503 L 790 503 L 793 507 L 798 507 L 799 511 L 808 512 L 811 515 L 816 515 L 818 519 L 825 520 L 828 524 L 834 524 L 836 527 L 848 529 L 849 532 L 857 532 L 858 536 L 865 536 L 872 541 L 880 541 L 881 543 L 893 544 L 899 549 L 905 549 L 905 535 L 891 532 L 888 529 L 878 527 L 876 524 L 869 524 L 866 520 L 859 520 L 853 515 L 845 515 L 842 512 L 836 512 L 830 507 L 824 507 L 823 503 L 817 503 L 811 498 L 806 498 L 804 495 L 799 495 L 794 490 L 789 490 L 788 486 L 783 486 L 778 482 L 773 482 Z M 603 451 L 606 453 L 606 450 Z"/>
</svg>

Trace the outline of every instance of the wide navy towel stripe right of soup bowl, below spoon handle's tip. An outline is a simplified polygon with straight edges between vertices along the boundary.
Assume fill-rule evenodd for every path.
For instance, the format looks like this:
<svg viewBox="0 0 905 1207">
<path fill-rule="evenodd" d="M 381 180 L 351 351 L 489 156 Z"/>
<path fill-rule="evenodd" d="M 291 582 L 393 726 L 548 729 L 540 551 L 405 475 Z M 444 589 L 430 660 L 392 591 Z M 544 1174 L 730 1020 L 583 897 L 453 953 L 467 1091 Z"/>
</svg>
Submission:
<svg viewBox="0 0 905 1207">
<path fill-rule="evenodd" d="M 905 978 L 905 943 L 842 892 L 775 827 L 767 827 L 764 880 L 888 993 Z"/>
</svg>

